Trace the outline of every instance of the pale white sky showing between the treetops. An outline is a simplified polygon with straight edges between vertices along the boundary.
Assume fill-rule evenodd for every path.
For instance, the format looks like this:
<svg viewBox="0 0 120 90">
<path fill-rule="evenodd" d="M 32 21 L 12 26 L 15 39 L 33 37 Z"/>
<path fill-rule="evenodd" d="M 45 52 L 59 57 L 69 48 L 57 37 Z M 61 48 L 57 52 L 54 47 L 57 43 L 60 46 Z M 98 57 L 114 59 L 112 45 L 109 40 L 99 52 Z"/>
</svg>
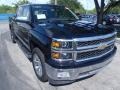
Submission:
<svg viewBox="0 0 120 90">
<path fill-rule="evenodd" d="M 5 5 L 12 5 L 13 3 L 16 3 L 19 0 L 0 0 L 0 5 L 5 4 Z M 40 4 L 47 4 L 49 3 L 50 0 L 29 0 L 32 3 L 40 3 Z M 69 1 L 69 0 L 68 0 Z M 87 10 L 92 10 L 94 9 L 94 0 L 78 0 L 81 2 L 83 7 Z"/>
</svg>

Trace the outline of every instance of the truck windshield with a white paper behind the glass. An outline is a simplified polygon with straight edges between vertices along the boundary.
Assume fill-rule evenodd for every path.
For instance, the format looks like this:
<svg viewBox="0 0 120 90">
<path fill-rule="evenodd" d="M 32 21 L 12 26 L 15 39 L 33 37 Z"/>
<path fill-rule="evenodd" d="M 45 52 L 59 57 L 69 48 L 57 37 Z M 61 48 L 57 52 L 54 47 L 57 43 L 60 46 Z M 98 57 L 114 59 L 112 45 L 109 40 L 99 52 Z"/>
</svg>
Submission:
<svg viewBox="0 0 120 90">
<path fill-rule="evenodd" d="M 76 20 L 78 17 L 68 8 L 63 6 L 34 6 L 34 17 L 37 21 L 44 20 Z"/>
</svg>

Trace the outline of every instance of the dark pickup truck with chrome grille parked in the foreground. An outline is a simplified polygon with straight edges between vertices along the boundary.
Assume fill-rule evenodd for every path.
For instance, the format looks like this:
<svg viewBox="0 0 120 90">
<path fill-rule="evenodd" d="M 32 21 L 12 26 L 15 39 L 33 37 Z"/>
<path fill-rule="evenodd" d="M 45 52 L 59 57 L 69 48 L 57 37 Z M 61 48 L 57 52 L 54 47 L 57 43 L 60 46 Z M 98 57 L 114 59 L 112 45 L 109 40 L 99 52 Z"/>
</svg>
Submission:
<svg viewBox="0 0 120 90">
<path fill-rule="evenodd" d="M 42 82 L 67 84 L 95 75 L 116 53 L 112 27 L 80 21 L 64 6 L 19 6 L 9 27 L 13 43 L 20 41 L 29 51 Z"/>
</svg>

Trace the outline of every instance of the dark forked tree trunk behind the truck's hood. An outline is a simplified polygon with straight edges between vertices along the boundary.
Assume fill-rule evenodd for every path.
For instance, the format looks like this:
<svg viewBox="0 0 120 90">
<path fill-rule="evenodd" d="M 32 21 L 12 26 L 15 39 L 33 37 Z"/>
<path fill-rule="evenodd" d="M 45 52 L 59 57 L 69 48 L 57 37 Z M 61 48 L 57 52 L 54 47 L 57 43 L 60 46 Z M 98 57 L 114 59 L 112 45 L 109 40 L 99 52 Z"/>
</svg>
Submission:
<svg viewBox="0 0 120 90">
<path fill-rule="evenodd" d="M 97 24 L 102 24 L 103 15 L 111 8 L 120 3 L 120 0 L 109 0 L 109 3 L 105 5 L 105 0 L 101 0 L 99 4 L 98 0 L 94 0 L 96 12 L 97 12 Z"/>
</svg>

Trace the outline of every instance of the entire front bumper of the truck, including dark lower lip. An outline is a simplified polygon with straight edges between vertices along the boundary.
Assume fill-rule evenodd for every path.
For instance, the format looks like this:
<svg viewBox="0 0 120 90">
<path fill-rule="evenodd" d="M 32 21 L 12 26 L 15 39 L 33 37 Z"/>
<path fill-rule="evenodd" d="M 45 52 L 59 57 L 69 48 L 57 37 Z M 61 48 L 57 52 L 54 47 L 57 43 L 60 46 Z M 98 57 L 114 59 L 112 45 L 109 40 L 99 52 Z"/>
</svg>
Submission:
<svg viewBox="0 0 120 90">
<path fill-rule="evenodd" d="M 107 58 L 104 58 L 105 59 L 104 61 L 100 63 L 92 64 L 89 66 L 79 67 L 79 68 L 58 69 L 46 64 L 46 70 L 47 70 L 49 82 L 55 85 L 67 84 L 67 83 L 72 83 L 77 79 L 94 75 L 112 61 L 113 59 L 112 57 L 115 54 L 115 52 L 116 52 L 116 48 L 110 56 L 108 56 Z M 60 77 L 59 74 L 61 73 L 64 73 L 64 75 L 62 74 L 62 76 Z"/>
</svg>

